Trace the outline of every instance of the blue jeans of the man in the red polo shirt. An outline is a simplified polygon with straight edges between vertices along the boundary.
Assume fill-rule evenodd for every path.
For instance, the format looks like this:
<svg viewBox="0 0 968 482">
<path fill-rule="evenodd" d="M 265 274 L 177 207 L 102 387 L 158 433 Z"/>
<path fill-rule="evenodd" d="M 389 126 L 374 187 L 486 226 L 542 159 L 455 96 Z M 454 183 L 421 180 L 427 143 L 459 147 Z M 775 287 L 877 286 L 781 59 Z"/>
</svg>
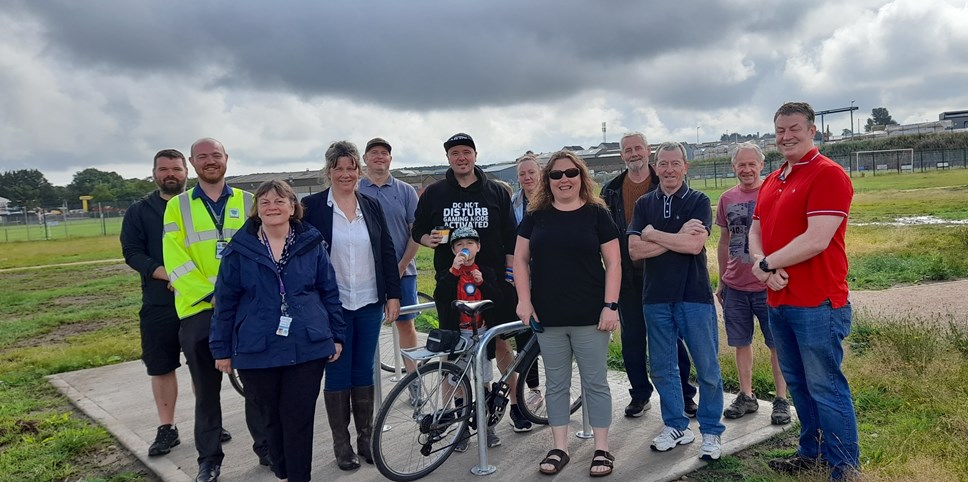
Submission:
<svg viewBox="0 0 968 482">
<path fill-rule="evenodd" d="M 840 369 L 842 342 L 850 333 L 850 304 L 770 307 L 770 328 L 780 369 L 800 419 L 797 453 L 821 457 L 834 469 L 859 467 L 857 416 L 847 378 Z"/>
</svg>

